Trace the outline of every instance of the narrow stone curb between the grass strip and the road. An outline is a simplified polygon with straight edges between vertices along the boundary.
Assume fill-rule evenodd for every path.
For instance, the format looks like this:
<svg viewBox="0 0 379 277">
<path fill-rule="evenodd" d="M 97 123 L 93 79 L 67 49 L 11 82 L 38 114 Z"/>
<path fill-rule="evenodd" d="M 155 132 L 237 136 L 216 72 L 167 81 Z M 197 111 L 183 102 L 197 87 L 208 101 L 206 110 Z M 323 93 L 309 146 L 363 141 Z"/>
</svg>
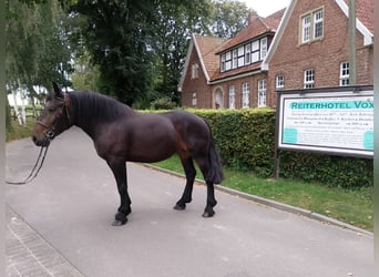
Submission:
<svg viewBox="0 0 379 277">
<path fill-rule="evenodd" d="M 181 173 L 176 173 L 176 172 L 172 172 L 172 171 L 168 171 L 165 168 L 161 168 L 161 167 L 152 165 L 152 164 L 143 163 L 143 165 L 146 167 L 150 167 L 152 170 L 155 170 L 155 171 L 160 171 L 160 172 L 167 173 L 167 174 L 171 174 L 171 175 L 174 175 L 177 177 L 185 178 L 185 175 L 183 175 Z M 195 182 L 205 186 L 205 182 L 203 179 L 196 178 Z M 239 191 L 236 191 L 236 189 L 233 189 L 229 187 L 221 186 L 221 185 L 215 185 L 215 189 L 223 192 L 223 193 L 231 194 L 231 195 L 236 196 L 236 197 L 240 197 L 243 199 L 247 199 L 247 201 L 258 203 L 260 205 L 265 205 L 268 207 L 280 209 L 280 211 L 286 212 L 286 213 L 296 214 L 299 216 L 304 216 L 304 217 L 308 217 L 310 219 L 318 220 L 318 222 L 324 223 L 324 224 L 329 224 L 329 225 L 338 226 L 340 228 L 350 229 L 350 230 L 356 232 L 358 235 L 367 235 L 367 236 L 371 236 L 371 237 L 373 236 L 372 232 L 356 227 L 351 224 L 347 224 L 347 223 L 337 220 L 335 218 L 331 218 L 331 217 L 328 217 L 325 215 L 320 215 L 318 213 L 314 213 L 314 212 L 308 211 L 308 209 L 294 207 L 294 206 L 290 206 L 287 204 L 283 204 L 283 203 L 279 203 L 276 201 L 263 198 L 263 197 L 259 197 L 259 196 L 256 196 L 253 194 L 243 193 L 243 192 L 239 192 Z"/>
</svg>

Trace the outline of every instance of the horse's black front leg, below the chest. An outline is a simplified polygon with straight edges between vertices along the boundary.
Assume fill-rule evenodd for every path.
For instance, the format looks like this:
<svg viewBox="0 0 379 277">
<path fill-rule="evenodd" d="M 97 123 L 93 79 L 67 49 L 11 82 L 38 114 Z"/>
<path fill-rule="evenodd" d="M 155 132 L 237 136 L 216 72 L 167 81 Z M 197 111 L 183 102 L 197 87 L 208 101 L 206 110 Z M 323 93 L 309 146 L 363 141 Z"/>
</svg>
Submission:
<svg viewBox="0 0 379 277">
<path fill-rule="evenodd" d="M 113 226 L 121 226 L 127 222 L 126 216 L 132 212 L 131 208 L 131 198 L 127 194 L 127 176 L 126 176 L 126 163 L 107 161 L 109 166 L 111 167 L 114 178 L 117 183 L 117 189 L 120 194 L 121 204 L 117 209 L 117 213 L 114 216 Z"/>
</svg>

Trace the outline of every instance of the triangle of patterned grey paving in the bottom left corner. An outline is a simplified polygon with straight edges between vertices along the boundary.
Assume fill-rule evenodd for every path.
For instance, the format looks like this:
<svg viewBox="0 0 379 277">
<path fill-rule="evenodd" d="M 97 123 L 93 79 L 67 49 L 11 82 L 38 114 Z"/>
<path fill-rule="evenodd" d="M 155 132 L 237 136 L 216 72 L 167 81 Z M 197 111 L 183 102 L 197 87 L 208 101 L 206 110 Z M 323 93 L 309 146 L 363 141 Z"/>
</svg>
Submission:
<svg viewBox="0 0 379 277">
<path fill-rule="evenodd" d="M 7 276 L 83 276 L 7 205 Z"/>
</svg>

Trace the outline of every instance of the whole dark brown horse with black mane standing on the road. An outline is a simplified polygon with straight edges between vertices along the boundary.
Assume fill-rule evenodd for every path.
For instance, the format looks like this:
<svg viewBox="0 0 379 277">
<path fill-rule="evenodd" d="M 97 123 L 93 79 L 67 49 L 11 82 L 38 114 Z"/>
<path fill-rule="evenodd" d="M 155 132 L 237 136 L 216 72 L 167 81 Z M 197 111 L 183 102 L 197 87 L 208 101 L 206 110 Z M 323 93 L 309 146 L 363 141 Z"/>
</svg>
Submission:
<svg viewBox="0 0 379 277">
<path fill-rule="evenodd" d="M 113 225 L 126 223 L 132 212 L 127 194 L 126 162 L 153 163 L 177 154 L 186 175 L 186 185 L 175 209 L 185 209 L 192 201 L 196 175 L 193 161 L 198 164 L 206 185 L 204 217 L 212 217 L 217 204 L 214 184 L 223 181 L 219 156 L 211 129 L 201 117 L 184 111 L 158 114 L 139 113 L 129 106 L 92 92 L 62 92 L 53 83 L 54 92 L 47 98 L 41 117 L 35 122 L 33 141 L 47 146 L 57 135 L 76 125 L 94 142 L 95 150 L 111 167 L 121 197 Z"/>
</svg>

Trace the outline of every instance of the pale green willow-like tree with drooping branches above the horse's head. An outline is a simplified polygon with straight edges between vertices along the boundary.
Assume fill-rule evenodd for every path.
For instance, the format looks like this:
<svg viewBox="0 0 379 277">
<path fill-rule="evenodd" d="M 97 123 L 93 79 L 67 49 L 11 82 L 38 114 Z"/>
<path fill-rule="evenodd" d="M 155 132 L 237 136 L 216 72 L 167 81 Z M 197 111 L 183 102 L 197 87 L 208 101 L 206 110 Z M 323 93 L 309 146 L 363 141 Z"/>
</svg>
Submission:
<svg viewBox="0 0 379 277">
<path fill-rule="evenodd" d="M 52 80 L 70 84 L 64 75 L 72 71 L 70 47 L 58 0 L 8 0 L 6 7 L 8 89 L 33 98 L 34 85 L 50 88 Z"/>
</svg>

